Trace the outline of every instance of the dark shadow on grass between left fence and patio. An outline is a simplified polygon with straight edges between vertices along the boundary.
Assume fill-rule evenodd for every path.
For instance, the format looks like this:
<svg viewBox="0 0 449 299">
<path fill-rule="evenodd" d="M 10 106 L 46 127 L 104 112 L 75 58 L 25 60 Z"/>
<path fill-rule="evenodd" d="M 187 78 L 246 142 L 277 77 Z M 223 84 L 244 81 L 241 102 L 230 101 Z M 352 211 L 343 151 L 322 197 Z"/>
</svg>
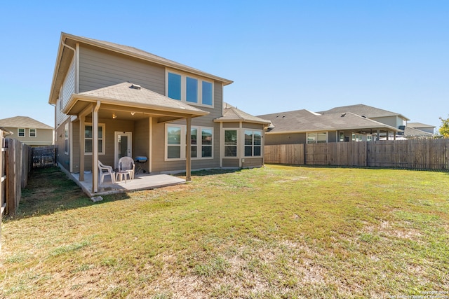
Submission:
<svg viewBox="0 0 449 299">
<path fill-rule="evenodd" d="M 4 221 L 53 214 L 58 211 L 79 209 L 103 202 L 128 198 L 126 193 L 108 195 L 101 202 L 92 202 L 83 190 L 58 167 L 35 169 L 30 173 L 26 188 L 22 189 L 18 211 Z"/>
</svg>

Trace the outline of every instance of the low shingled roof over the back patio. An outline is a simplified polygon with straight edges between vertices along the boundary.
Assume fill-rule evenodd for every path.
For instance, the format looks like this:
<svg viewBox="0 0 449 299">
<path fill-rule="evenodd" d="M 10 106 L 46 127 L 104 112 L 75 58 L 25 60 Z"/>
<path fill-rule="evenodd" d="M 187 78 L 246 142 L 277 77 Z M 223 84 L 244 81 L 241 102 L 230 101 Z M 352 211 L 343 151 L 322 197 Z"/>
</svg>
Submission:
<svg viewBox="0 0 449 299">
<path fill-rule="evenodd" d="M 133 86 L 137 86 L 138 88 L 133 88 Z M 170 99 L 157 92 L 141 88 L 139 85 L 133 85 L 128 82 L 72 95 L 69 99 L 69 104 L 67 104 L 67 109 L 63 112 L 66 113 L 71 109 L 77 99 L 88 101 L 100 100 L 107 102 L 108 104 L 159 111 L 180 112 L 192 114 L 194 116 L 205 116 L 208 114 L 208 112 L 194 106 L 187 105 L 175 99 Z"/>
</svg>

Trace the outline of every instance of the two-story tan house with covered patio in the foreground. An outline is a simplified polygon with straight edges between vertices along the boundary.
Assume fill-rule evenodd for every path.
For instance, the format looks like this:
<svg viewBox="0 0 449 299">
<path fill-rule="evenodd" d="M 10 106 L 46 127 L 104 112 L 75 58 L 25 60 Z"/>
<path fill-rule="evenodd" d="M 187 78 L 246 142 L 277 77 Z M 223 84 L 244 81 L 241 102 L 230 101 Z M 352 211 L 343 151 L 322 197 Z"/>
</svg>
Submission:
<svg viewBox="0 0 449 299">
<path fill-rule="evenodd" d="M 262 166 L 264 123 L 225 116 L 223 88 L 231 83 L 137 48 L 62 33 L 48 100 L 59 165 L 80 181 L 94 169 L 93 192 L 98 160 L 116 168 L 123 155 L 147 157 L 146 172 L 186 172 L 187 180 L 191 169 Z M 229 162 L 228 125 L 237 129 L 233 157 L 244 162 Z M 246 129 L 253 134 L 243 138 Z"/>
</svg>

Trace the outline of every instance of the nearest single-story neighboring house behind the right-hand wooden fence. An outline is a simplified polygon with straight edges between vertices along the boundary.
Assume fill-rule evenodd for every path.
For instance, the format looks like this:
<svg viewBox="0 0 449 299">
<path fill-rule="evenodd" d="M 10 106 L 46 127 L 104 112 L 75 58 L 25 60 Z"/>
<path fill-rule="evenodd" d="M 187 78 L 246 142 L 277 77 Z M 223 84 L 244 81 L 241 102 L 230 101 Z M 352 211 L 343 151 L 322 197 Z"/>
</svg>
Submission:
<svg viewBox="0 0 449 299">
<path fill-rule="evenodd" d="M 265 132 L 265 145 L 370 141 L 389 132 L 395 138 L 394 133 L 401 131 L 351 112 L 320 114 L 303 109 L 258 117 L 272 123 Z"/>
</svg>

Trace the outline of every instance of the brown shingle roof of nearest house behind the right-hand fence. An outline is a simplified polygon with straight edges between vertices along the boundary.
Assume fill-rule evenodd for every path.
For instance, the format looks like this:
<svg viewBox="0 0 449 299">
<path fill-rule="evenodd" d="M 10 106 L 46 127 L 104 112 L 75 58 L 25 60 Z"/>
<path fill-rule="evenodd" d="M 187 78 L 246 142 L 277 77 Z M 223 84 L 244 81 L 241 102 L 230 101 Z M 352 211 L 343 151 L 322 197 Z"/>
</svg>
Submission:
<svg viewBox="0 0 449 299">
<path fill-rule="evenodd" d="M 401 131 L 395 127 L 379 123 L 354 113 L 319 114 L 305 109 L 266 114 L 259 116 L 272 121 L 272 130 L 267 134 L 286 132 L 318 132 L 333 130 L 390 130 Z"/>
</svg>

